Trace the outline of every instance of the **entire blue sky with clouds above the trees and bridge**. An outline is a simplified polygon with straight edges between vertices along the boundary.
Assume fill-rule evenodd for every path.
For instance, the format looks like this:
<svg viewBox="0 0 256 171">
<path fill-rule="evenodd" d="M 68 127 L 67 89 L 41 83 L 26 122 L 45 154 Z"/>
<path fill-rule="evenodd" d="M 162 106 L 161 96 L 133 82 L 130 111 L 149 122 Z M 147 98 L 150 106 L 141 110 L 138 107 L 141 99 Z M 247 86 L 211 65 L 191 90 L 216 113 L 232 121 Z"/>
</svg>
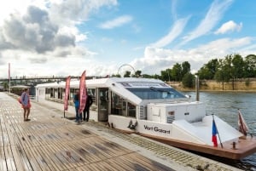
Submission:
<svg viewBox="0 0 256 171">
<path fill-rule="evenodd" d="M 9 0 L 0 78 L 160 74 L 256 54 L 255 0 Z"/>
</svg>

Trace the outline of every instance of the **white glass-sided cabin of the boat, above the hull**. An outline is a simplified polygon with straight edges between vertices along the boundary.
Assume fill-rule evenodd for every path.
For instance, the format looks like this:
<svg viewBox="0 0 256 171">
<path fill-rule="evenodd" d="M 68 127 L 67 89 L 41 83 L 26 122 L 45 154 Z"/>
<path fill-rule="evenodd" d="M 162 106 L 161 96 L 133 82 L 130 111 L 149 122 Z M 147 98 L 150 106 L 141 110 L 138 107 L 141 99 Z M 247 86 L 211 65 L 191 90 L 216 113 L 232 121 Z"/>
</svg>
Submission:
<svg viewBox="0 0 256 171">
<path fill-rule="evenodd" d="M 66 83 L 45 83 L 36 87 L 36 99 L 55 102 L 63 109 Z M 189 102 L 189 98 L 166 83 L 145 78 L 102 78 L 86 80 L 87 94 L 93 99 L 90 119 L 108 122 L 110 116 L 131 117 L 160 123 L 172 123 L 175 119 L 197 122 L 205 115 L 201 102 Z M 79 89 L 79 81 L 70 83 L 69 112 L 74 113 L 73 96 Z M 187 105 L 187 106 L 186 106 Z M 196 112 L 198 117 L 191 117 Z"/>
</svg>

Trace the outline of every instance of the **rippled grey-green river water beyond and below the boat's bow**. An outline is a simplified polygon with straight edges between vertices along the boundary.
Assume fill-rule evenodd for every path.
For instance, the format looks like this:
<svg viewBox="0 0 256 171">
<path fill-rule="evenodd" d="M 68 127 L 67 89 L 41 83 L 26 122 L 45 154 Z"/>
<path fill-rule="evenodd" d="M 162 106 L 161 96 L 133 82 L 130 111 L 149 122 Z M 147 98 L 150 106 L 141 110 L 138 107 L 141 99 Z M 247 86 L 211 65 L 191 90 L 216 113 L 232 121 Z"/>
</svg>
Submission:
<svg viewBox="0 0 256 171">
<path fill-rule="evenodd" d="M 184 92 L 195 100 L 195 92 Z M 256 93 L 239 93 L 239 92 L 200 92 L 200 101 L 207 105 L 207 114 L 214 114 L 222 118 L 225 122 L 230 123 L 234 128 L 238 128 L 238 109 L 244 117 L 249 132 L 256 136 Z M 210 157 L 218 162 L 224 162 L 236 168 L 243 170 L 256 171 L 256 153 L 252 156 L 235 160 L 224 160 L 224 158 Z"/>
</svg>

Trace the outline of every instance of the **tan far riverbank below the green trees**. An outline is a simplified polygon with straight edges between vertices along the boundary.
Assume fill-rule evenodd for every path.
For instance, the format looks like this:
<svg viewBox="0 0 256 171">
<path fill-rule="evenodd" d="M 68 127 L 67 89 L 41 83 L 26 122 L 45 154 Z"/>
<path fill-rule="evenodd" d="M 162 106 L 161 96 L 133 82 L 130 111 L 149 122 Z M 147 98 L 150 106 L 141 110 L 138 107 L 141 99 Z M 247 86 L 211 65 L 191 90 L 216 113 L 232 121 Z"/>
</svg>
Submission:
<svg viewBox="0 0 256 171">
<path fill-rule="evenodd" d="M 168 83 L 178 91 L 195 91 L 195 88 L 184 88 L 181 82 Z M 234 83 L 217 83 L 216 81 L 201 81 L 200 91 L 205 92 L 255 92 L 256 93 L 256 80 L 248 81 L 236 81 Z"/>
</svg>

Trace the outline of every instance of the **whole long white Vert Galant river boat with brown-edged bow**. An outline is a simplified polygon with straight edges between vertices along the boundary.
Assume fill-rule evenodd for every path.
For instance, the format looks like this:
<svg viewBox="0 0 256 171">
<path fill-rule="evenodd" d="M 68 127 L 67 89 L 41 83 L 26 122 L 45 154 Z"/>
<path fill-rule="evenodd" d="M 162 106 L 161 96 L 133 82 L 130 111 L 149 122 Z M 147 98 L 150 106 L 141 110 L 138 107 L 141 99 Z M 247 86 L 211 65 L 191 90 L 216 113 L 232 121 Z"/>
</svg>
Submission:
<svg viewBox="0 0 256 171">
<path fill-rule="evenodd" d="M 203 102 L 192 101 L 160 80 L 108 77 L 85 80 L 85 84 L 93 97 L 90 120 L 95 122 L 218 157 L 239 160 L 256 152 L 254 137 L 241 134 L 218 116 L 207 115 Z M 36 100 L 64 111 L 65 85 L 66 82 L 38 84 Z M 67 112 L 74 116 L 73 95 L 77 89 L 79 80 L 71 81 Z M 215 145 L 213 119 L 214 129 L 218 130 L 214 131 L 218 133 Z"/>
</svg>

